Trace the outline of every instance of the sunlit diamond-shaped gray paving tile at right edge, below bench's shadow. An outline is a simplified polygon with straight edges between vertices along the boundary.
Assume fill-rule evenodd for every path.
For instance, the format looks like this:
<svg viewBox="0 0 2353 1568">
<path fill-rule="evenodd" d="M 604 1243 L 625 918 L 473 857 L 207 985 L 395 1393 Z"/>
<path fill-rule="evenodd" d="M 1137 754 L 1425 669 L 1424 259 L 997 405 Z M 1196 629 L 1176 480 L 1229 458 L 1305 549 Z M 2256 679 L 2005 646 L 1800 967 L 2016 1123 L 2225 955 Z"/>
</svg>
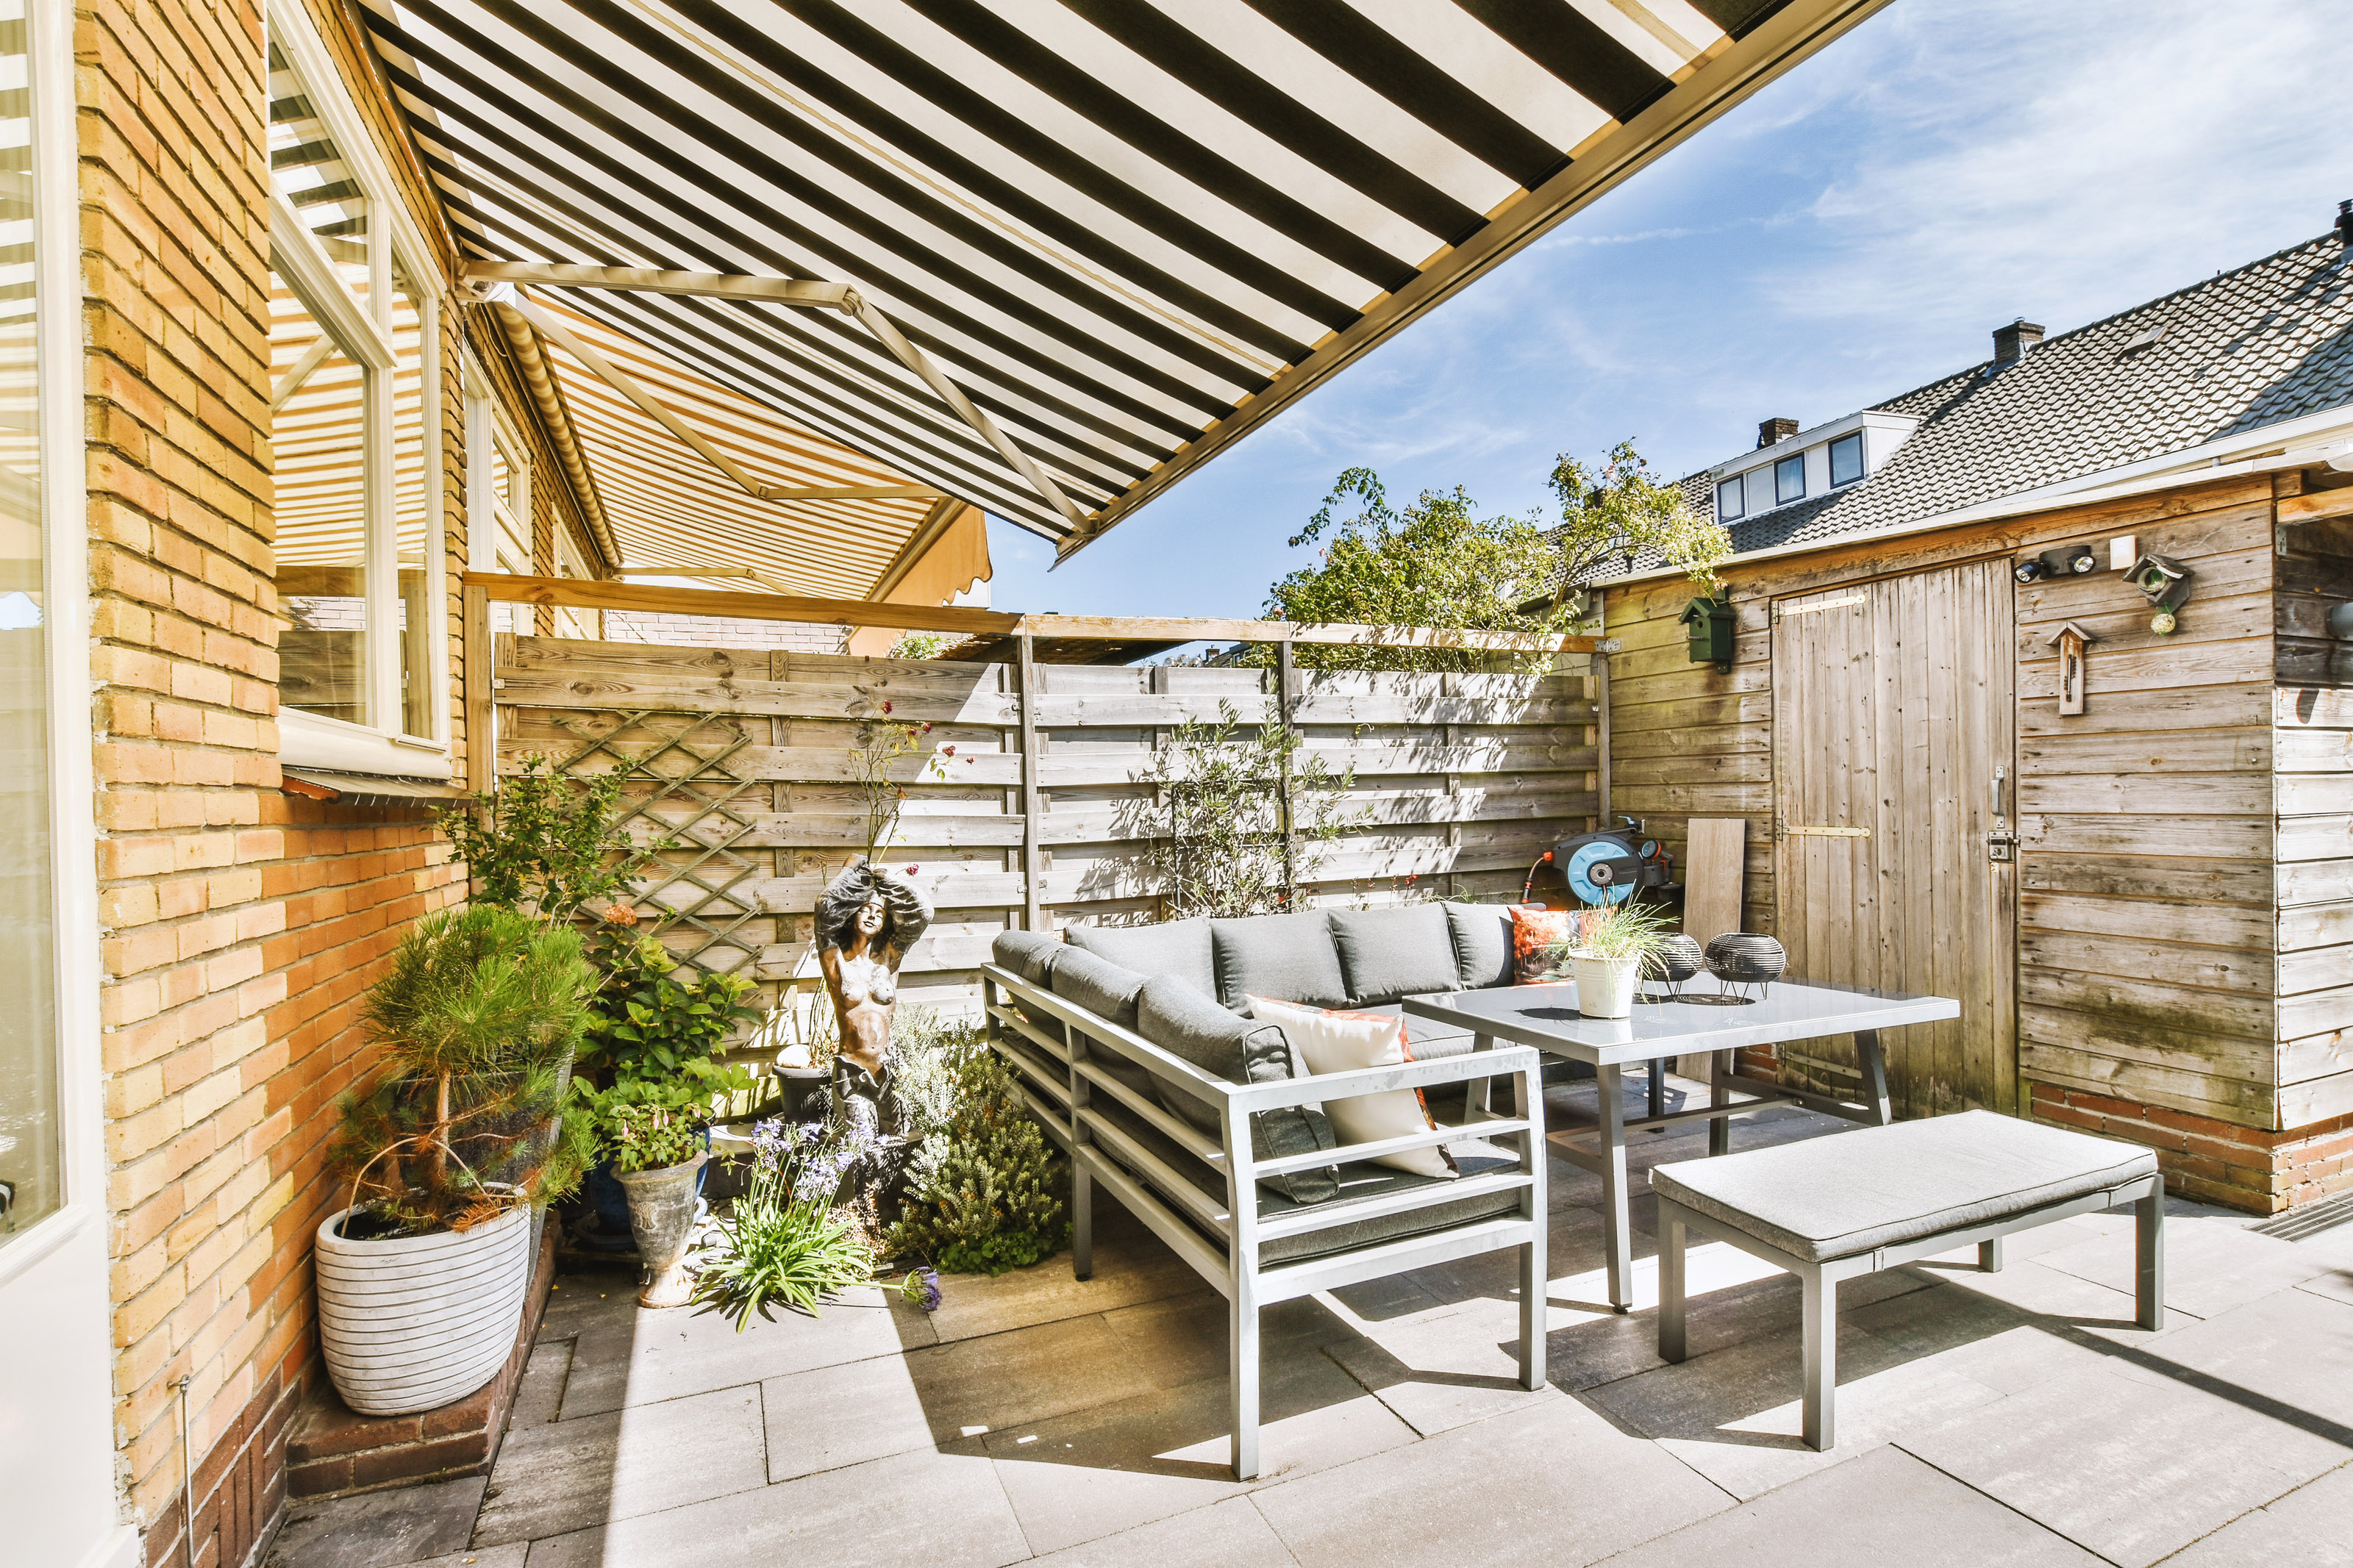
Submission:
<svg viewBox="0 0 2353 1568">
<path fill-rule="evenodd" d="M 1901 1446 L 2120 1568 L 2146 1568 L 2346 1458 L 2228 1399 L 2108 1366 Z"/>
</svg>

